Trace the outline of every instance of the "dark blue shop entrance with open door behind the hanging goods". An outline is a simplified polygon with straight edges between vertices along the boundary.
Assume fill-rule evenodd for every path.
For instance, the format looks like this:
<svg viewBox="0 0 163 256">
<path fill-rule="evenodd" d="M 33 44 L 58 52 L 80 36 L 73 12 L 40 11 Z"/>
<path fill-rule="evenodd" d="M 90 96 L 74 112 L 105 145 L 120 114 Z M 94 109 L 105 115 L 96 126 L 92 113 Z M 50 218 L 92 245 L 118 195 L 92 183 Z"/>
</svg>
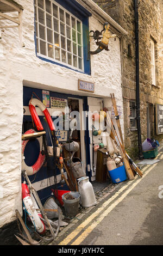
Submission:
<svg viewBox="0 0 163 256">
<path fill-rule="evenodd" d="M 39 99 L 46 106 L 53 123 L 55 125 L 55 136 L 62 147 L 63 159 L 68 168 L 68 160 L 70 153 L 72 152 L 65 149 L 64 145 L 68 142 L 77 142 L 79 147 L 77 151 L 74 152 L 72 160 L 74 162 L 81 162 L 83 170 L 86 176 L 89 176 L 90 181 L 96 180 L 96 162 L 97 162 L 97 150 L 101 144 L 103 144 L 102 132 L 103 132 L 103 119 L 101 123 L 97 120 L 92 119 L 93 113 L 99 113 L 104 108 L 104 103 L 109 107 L 111 106 L 111 99 L 109 97 L 87 97 L 80 95 L 62 94 L 55 93 L 52 91 L 36 89 L 32 87 L 23 87 L 23 125 L 22 125 L 22 135 L 26 135 L 28 131 L 33 129 L 37 132 L 36 125 L 32 118 L 29 110 L 30 99 Z M 53 146 L 52 134 L 48 127 L 44 113 L 39 107 L 36 107 L 36 112 L 43 126 L 43 131 L 46 132 L 47 150 L 51 149 Z M 68 114 L 67 124 L 65 121 L 65 115 Z M 102 115 L 101 115 L 102 118 Z M 72 124 L 71 122 L 76 119 L 77 123 Z M 66 126 L 67 125 L 67 126 Z M 101 129 L 101 130 L 100 130 Z M 97 136 L 93 136 L 93 132 L 100 131 Z M 22 141 L 23 145 L 24 142 Z M 42 145 L 42 148 L 40 148 Z M 39 144 L 37 138 L 30 138 L 22 151 L 22 161 L 26 163 L 26 167 L 33 167 L 39 158 L 40 151 L 45 150 L 43 144 Z M 103 145 L 102 147 L 105 147 Z M 58 155 L 60 157 L 60 155 Z M 53 158 L 49 157 L 52 167 Z M 46 161 L 45 161 L 46 162 Z M 57 167 L 54 173 L 53 168 L 48 168 L 47 163 L 40 165 L 40 168 L 31 175 L 30 181 L 35 187 L 36 191 L 39 193 L 42 203 L 45 203 L 47 198 L 51 196 L 54 187 L 56 190 L 74 190 L 74 176 L 72 175 L 72 180 L 68 179 L 66 170 L 64 169 L 64 174 L 66 179 L 70 183 L 67 186 L 65 181 L 61 180 L 61 172 Z M 71 170 L 69 169 L 69 172 Z M 64 184 L 63 184 L 64 183 Z"/>
</svg>

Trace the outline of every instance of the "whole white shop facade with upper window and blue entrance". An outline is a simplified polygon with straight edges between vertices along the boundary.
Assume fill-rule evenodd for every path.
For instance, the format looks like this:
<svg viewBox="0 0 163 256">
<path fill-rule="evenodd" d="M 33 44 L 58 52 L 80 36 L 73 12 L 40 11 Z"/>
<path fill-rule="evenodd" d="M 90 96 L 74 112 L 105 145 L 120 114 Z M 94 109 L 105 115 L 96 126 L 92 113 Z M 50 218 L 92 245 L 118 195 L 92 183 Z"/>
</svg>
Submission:
<svg viewBox="0 0 163 256">
<path fill-rule="evenodd" d="M 91 0 L 18 2 L 23 7 L 23 47 L 17 30 L 12 28 L 3 34 L 0 45 L 3 61 L 0 203 L 4 206 L 0 227 L 16 221 L 15 210 L 23 215 L 24 169 L 35 169 L 28 177 L 42 204 L 52 193 L 55 195 L 55 190 L 78 190 L 77 180 L 66 171 L 71 157 L 65 147 L 67 142 L 77 143 L 78 150 L 71 151 L 74 162 L 81 163 L 90 182 L 97 181 L 97 169 L 101 167 L 97 168 L 97 149 L 104 144 L 103 121 L 93 120 L 92 112 L 99 113 L 104 108 L 111 112 L 110 93 L 115 94 L 120 108 L 123 132 L 121 38 L 127 32 Z M 5 25 L 5 21 L 1 22 Z M 109 33 L 107 48 L 102 51 L 96 33 L 91 32 L 97 30 Z M 36 129 L 29 108 L 31 99 L 39 100 L 40 106 L 43 104 L 43 109 L 47 109 L 56 128 L 55 138 L 62 148 L 60 154 L 53 151 L 48 115 L 37 105 L 36 119 L 42 130 Z M 43 132 L 43 136 L 23 140 L 29 130 Z M 57 162 L 59 157 L 62 159 Z"/>
</svg>

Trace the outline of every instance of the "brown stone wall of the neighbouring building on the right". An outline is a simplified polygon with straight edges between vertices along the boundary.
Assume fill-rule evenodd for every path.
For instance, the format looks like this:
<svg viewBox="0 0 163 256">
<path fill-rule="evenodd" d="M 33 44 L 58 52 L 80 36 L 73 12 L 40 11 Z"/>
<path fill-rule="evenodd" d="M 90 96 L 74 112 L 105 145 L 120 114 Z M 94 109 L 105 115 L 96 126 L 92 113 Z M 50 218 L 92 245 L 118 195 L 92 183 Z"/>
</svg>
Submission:
<svg viewBox="0 0 163 256">
<path fill-rule="evenodd" d="M 122 39 L 122 86 L 124 133 L 126 148 L 132 151 L 137 131 L 130 129 L 129 100 L 136 100 L 135 76 L 135 13 L 133 0 L 95 0 L 112 19 L 118 22 L 128 35 Z M 163 12 L 162 0 L 139 1 L 139 60 L 140 60 L 140 114 L 142 142 L 147 138 L 147 106 L 149 106 L 151 137 L 161 141 L 162 135 L 155 134 L 154 106 L 163 104 Z M 156 42 L 156 86 L 152 86 L 151 37 Z"/>
</svg>

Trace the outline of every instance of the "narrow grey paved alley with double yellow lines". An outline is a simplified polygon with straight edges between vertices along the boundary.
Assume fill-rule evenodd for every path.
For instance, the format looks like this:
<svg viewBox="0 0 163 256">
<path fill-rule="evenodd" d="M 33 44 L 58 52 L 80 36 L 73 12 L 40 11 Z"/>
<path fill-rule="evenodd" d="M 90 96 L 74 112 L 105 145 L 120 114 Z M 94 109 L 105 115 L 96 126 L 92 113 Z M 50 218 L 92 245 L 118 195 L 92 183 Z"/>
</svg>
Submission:
<svg viewBox="0 0 163 256">
<path fill-rule="evenodd" d="M 158 162 L 142 165 L 142 178 L 98 192 L 97 206 L 79 214 L 51 245 L 162 245 L 162 159 L 160 149 Z"/>
</svg>

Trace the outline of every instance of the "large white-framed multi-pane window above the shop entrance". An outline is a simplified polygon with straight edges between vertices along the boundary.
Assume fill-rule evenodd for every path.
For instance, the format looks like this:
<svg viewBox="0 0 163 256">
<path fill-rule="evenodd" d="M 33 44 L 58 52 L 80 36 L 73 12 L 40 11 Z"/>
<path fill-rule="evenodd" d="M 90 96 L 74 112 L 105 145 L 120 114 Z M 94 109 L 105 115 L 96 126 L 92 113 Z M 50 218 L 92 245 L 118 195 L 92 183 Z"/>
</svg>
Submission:
<svg viewBox="0 0 163 256">
<path fill-rule="evenodd" d="M 84 70 L 83 24 L 54 0 L 35 0 L 37 56 Z"/>
</svg>

